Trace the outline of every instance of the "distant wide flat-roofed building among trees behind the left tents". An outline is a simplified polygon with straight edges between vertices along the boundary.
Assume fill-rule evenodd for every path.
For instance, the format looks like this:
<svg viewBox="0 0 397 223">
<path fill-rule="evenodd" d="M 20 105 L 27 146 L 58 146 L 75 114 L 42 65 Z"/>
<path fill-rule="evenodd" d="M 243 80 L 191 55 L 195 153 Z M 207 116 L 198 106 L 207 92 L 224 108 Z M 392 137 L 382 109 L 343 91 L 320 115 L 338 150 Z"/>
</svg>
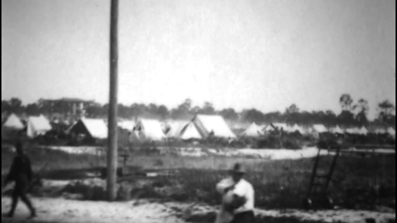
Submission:
<svg viewBox="0 0 397 223">
<path fill-rule="evenodd" d="M 39 107 L 45 108 L 49 114 L 63 113 L 65 115 L 84 116 L 87 108 L 93 106 L 93 100 L 79 98 L 40 99 Z"/>
</svg>

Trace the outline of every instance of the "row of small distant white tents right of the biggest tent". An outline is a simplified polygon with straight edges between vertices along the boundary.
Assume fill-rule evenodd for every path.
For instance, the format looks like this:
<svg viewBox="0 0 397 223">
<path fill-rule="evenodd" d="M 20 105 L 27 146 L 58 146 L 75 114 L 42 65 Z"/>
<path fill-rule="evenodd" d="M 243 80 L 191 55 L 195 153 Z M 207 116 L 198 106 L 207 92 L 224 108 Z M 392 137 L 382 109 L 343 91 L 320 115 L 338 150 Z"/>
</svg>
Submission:
<svg viewBox="0 0 397 223">
<path fill-rule="evenodd" d="M 302 127 L 299 126 L 298 124 L 294 125 L 287 125 L 286 123 L 272 123 L 269 125 L 257 125 L 256 123 L 252 123 L 245 131 L 241 133 L 241 136 L 249 136 L 249 137 L 258 137 L 265 135 L 267 132 L 274 131 L 275 129 L 281 130 L 285 132 L 299 132 L 302 135 L 306 134 L 315 134 L 315 133 L 338 133 L 338 134 L 356 134 L 356 135 L 367 135 L 370 133 L 368 129 L 366 129 L 364 126 L 363 127 L 353 127 L 353 128 L 346 128 L 346 129 L 341 129 L 338 125 L 335 127 L 327 128 L 322 124 L 315 124 L 310 127 Z M 376 134 L 389 134 L 391 136 L 395 136 L 395 129 L 392 127 L 389 128 L 377 128 L 374 129 L 372 133 Z"/>
</svg>

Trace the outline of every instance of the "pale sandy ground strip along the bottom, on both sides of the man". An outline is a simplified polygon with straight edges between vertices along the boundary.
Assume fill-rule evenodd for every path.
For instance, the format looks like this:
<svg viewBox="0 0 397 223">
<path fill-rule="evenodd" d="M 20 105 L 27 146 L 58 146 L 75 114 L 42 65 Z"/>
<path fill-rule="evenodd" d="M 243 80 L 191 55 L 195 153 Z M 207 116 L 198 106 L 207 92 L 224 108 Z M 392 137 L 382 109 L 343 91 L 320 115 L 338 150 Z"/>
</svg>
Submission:
<svg viewBox="0 0 397 223">
<path fill-rule="evenodd" d="M 2 197 L 2 211 L 9 210 L 10 198 Z M 216 208 L 191 204 L 168 202 L 159 204 L 147 200 L 129 202 L 91 202 L 65 200 L 63 198 L 33 198 L 37 207 L 38 217 L 26 221 L 29 211 L 24 204 L 18 204 L 13 219 L 2 217 L 2 222 L 42 222 L 42 223 L 186 223 L 177 214 L 198 214 L 216 211 Z M 189 210 L 187 212 L 186 210 Z M 374 211 L 354 210 L 256 210 L 256 213 L 267 217 L 295 217 L 302 221 L 320 221 L 332 223 L 364 223 L 366 218 L 373 218 L 376 223 L 387 223 L 394 219 L 395 213 L 379 213 Z"/>
</svg>

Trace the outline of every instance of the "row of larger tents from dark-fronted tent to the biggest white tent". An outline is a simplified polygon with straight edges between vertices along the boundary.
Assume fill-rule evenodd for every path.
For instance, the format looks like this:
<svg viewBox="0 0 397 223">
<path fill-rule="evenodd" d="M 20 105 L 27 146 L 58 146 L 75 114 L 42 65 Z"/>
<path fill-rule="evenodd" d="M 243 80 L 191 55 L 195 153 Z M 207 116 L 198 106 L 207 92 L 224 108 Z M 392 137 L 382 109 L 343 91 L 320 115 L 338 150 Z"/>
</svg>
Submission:
<svg viewBox="0 0 397 223">
<path fill-rule="evenodd" d="M 166 138 L 203 139 L 210 135 L 236 138 L 220 115 L 196 115 L 191 121 L 120 120 L 118 127 L 130 132 L 130 141 L 161 141 Z M 67 131 L 71 134 L 89 134 L 93 138 L 108 136 L 108 126 L 104 119 L 81 118 Z"/>
</svg>

